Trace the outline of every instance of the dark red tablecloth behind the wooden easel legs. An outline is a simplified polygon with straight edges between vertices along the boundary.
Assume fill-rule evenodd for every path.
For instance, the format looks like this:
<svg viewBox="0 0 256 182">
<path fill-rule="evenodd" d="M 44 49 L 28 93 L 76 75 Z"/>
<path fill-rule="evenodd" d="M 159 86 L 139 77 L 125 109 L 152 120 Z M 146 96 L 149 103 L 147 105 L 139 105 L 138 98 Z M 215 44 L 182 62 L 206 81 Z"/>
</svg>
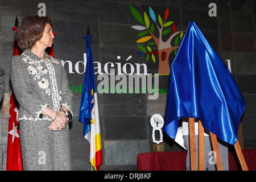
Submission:
<svg viewBox="0 0 256 182">
<path fill-rule="evenodd" d="M 242 150 L 249 170 L 256 171 L 256 149 Z M 138 154 L 138 171 L 184 171 L 187 151 Z M 241 170 L 237 155 L 229 152 L 229 170 Z"/>
</svg>

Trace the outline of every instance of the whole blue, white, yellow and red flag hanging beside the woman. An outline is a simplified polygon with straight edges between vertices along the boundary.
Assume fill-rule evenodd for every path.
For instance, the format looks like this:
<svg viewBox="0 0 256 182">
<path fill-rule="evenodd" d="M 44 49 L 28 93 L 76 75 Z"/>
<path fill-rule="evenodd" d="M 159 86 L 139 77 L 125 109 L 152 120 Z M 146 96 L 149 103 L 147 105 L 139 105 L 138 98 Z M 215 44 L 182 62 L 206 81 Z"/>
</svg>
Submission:
<svg viewBox="0 0 256 182">
<path fill-rule="evenodd" d="M 90 163 L 99 171 L 102 164 L 100 119 L 98 116 L 97 87 L 94 76 L 91 36 L 86 38 L 86 54 L 84 54 L 85 76 L 79 110 L 79 121 L 84 123 L 83 136 L 90 143 Z"/>
</svg>

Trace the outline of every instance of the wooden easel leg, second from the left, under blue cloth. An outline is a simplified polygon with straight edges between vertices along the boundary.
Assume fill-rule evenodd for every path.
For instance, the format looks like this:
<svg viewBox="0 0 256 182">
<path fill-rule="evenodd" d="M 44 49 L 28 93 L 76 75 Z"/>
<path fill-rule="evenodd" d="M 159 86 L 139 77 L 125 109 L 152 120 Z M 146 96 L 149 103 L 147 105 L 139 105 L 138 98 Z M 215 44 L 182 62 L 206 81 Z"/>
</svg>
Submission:
<svg viewBox="0 0 256 182">
<path fill-rule="evenodd" d="M 199 171 L 204 171 L 204 127 L 202 122 L 198 121 L 199 135 L 198 135 L 198 155 L 199 155 Z"/>
</svg>

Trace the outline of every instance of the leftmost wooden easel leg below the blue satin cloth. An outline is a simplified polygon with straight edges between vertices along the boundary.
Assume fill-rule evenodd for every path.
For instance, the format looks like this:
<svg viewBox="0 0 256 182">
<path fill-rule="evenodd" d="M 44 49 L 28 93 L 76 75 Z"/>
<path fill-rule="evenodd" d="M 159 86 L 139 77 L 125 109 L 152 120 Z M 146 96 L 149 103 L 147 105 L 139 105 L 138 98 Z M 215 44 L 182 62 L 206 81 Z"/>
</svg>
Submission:
<svg viewBox="0 0 256 182">
<path fill-rule="evenodd" d="M 188 129 L 189 129 L 189 151 L 190 151 L 191 171 L 196 171 L 197 164 L 196 164 L 195 118 L 188 119 Z"/>
</svg>

